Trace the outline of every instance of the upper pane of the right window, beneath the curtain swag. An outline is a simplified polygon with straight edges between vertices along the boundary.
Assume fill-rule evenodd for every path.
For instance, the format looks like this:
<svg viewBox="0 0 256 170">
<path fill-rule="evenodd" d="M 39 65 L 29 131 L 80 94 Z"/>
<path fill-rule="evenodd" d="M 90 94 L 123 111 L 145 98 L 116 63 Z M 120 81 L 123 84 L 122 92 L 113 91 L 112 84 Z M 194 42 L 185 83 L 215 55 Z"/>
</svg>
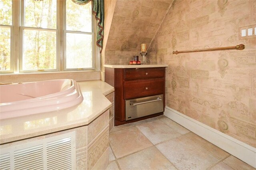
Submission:
<svg viewBox="0 0 256 170">
<path fill-rule="evenodd" d="M 66 0 L 66 30 L 92 32 L 92 5 Z"/>
</svg>

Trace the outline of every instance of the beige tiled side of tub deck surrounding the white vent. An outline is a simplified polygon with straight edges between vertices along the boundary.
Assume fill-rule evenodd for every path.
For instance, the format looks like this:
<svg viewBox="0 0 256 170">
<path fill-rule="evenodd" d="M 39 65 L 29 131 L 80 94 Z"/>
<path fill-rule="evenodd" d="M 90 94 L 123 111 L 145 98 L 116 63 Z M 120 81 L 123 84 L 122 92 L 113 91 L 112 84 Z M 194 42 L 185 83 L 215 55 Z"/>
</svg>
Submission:
<svg viewBox="0 0 256 170">
<path fill-rule="evenodd" d="M 40 137 L 33 137 L 12 143 L 0 145 L 0 150 L 32 141 L 46 139 L 65 133 L 74 132 L 76 136 L 76 168 L 77 170 L 105 169 L 108 165 L 109 150 L 109 110 L 94 119 L 89 125 L 75 127 L 73 129 L 58 131 Z M 40 143 L 40 142 L 39 142 Z"/>
</svg>

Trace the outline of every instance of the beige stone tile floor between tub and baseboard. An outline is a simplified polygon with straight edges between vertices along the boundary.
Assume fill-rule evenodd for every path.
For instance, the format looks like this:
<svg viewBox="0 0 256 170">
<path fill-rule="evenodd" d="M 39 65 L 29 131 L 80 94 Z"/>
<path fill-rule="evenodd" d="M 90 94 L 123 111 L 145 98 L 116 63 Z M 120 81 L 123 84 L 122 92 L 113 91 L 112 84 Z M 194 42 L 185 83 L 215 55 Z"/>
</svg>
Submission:
<svg viewBox="0 0 256 170">
<path fill-rule="evenodd" d="M 114 127 L 107 170 L 255 170 L 163 116 Z"/>
</svg>

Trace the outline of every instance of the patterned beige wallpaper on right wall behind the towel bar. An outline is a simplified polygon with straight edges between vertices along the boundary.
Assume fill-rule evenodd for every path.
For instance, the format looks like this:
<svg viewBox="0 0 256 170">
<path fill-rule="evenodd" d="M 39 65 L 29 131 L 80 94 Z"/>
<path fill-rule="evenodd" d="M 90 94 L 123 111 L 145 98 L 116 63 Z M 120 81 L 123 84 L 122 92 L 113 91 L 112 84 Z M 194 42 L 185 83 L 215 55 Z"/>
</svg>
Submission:
<svg viewBox="0 0 256 170">
<path fill-rule="evenodd" d="M 148 59 L 168 64 L 166 106 L 256 147 L 256 37 L 240 35 L 250 25 L 256 0 L 176 0 Z M 172 54 L 238 44 L 245 49 Z"/>
</svg>

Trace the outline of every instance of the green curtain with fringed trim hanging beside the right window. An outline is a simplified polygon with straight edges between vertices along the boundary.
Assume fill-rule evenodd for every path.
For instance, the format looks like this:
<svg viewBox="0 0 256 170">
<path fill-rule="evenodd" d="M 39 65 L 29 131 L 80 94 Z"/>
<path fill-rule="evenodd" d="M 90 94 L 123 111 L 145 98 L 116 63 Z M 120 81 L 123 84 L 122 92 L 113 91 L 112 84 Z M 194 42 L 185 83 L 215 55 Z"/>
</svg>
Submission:
<svg viewBox="0 0 256 170">
<path fill-rule="evenodd" d="M 92 13 L 95 15 L 97 23 L 97 37 L 96 45 L 100 47 L 100 53 L 102 52 L 102 42 L 104 35 L 104 0 L 72 0 L 78 5 L 85 5 L 92 1 Z"/>
</svg>

